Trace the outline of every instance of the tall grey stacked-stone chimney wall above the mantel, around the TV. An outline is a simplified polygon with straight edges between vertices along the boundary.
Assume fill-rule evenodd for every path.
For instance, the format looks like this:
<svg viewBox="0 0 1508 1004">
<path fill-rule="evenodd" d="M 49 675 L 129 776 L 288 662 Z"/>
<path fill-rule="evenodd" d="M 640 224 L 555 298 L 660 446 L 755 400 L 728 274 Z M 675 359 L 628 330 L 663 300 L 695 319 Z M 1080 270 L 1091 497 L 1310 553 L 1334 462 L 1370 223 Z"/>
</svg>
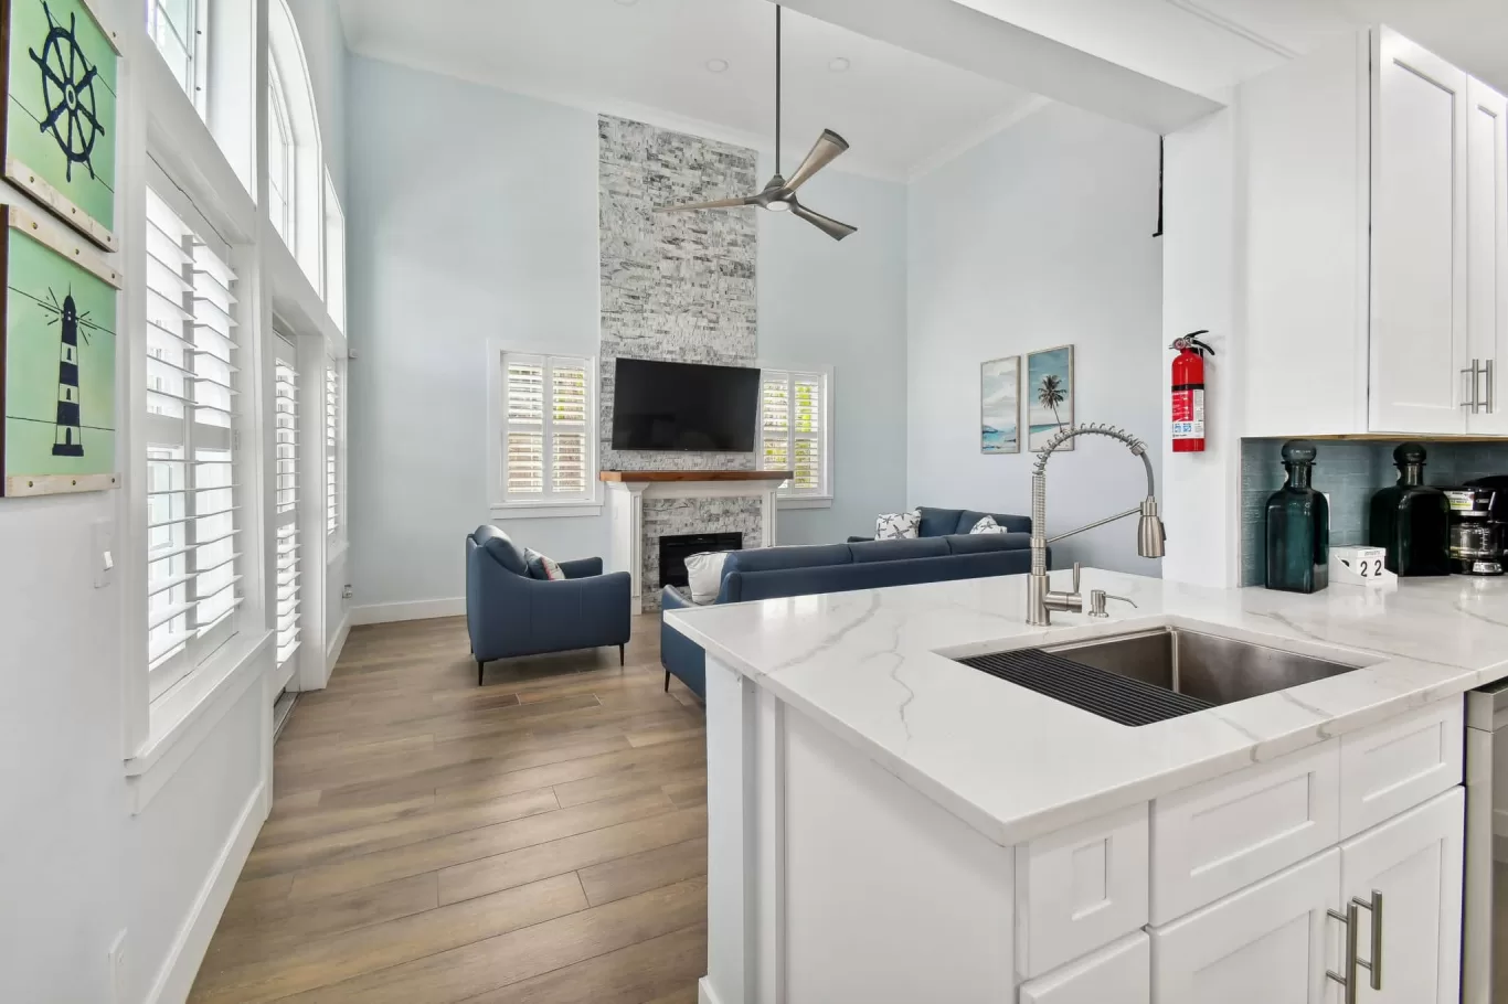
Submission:
<svg viewBox="0 0 1508 1004">
<path fill-rule="evenodd" d="M 740 470 L 756 454 L 612 449 L 618 356 L 752 366 L 754 214 L 654 213 L 759 187 L 756 152 L 608 115 L 597 118 L 602 265 L 602 470 Z M 695 526 L 688 529 L 710 529 Z"/>
</svg>

